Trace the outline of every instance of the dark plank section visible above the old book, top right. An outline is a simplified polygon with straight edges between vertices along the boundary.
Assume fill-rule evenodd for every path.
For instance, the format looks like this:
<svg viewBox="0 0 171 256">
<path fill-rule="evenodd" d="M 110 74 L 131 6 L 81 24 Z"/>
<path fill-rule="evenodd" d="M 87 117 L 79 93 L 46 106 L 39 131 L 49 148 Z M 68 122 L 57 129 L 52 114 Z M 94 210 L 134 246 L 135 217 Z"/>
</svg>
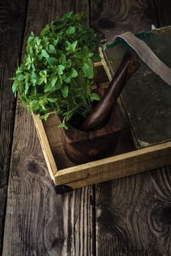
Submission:
<svg viewBox="0 0 171 256">
<path fill-rule="evenodd" d="M 91 25 L 112 40 L 123 31 L 144 31 L 157 25 L 153 0 L 91 1 Z"/>
</svg>

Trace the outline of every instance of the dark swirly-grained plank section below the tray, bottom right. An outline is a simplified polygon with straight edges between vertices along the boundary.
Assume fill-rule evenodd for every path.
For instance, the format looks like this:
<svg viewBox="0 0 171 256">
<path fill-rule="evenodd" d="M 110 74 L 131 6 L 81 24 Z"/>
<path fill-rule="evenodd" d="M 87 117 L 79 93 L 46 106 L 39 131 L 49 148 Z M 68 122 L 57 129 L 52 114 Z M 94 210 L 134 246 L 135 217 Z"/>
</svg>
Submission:
<svg viewBox="0 0 171 256">
<path fill-rule="evenodd" d="M 163 167 L 96 187 L 96 255 L 170 255 L 170 171 Z"/>
</svg>

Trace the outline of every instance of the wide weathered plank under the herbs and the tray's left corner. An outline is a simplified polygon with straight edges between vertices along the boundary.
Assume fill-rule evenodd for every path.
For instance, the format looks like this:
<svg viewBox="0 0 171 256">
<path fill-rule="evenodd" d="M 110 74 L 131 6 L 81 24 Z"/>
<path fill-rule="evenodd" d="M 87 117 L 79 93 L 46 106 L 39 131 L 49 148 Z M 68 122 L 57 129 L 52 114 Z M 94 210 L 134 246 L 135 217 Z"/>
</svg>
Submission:
<svg viewBox="0 0 171 256">
<path fill-rule="evenodd" d="M 70 8 L 88 10 L 88 1 L 29 0 L 25 43 Z M 93 219 L 92 187 L 56 195 L 34 122 L 18 101 L 3 255 L 94 255 Z"/>
</svg>

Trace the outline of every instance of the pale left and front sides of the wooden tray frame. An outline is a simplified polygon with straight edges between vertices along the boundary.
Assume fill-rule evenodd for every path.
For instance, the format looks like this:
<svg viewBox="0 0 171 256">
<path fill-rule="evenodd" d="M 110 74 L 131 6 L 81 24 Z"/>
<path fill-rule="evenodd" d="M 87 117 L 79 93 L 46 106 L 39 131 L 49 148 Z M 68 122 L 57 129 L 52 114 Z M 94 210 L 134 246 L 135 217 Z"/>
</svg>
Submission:
<svg viewBox="0 0 171 256">
<path fill-rule="evenodd" d="M 100 67 L 101 64 L 97 64 L 97 66 L 98 65 Z M 50 127 L 51 131 L 53 131 L 53 128 L 56 130 L 56 127 L 53 127 L 56 124 L 52 121 L 51 124 L 46 126 L 45 123 L 39 119 L 39 116 L 35 116 L 34 114 L 32 114 L 32 116 L 47 168 L 57 193 L 68 192 L 72 189 L 130 176 L 171 164 L 171 141 L 167 141 L 124 154 L 88 162 L 83 165 L 64 167 L 58 170 L 53 154 L 53 146 L 51 145 L 52 142 L 50 142 L 47 136 L 48 127 Z M 53 120 L 53 116 L 51 120 Z M 60 135 L 57 134 L 57 136 Z"/>
</svg>

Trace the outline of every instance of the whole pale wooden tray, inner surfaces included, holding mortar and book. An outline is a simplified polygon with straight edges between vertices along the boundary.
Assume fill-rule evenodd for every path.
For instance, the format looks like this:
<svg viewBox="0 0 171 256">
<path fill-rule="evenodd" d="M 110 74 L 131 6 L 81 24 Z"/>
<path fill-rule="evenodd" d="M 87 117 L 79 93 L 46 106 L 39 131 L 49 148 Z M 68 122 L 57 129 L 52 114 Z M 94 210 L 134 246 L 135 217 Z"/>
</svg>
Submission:
<svg viewBox="0 0 171 256">
<path fill-rule="evenodd" d="M 107 86 L 109 82 L 102 64 L 96 64 L 96 67 L 99 69 L 96 80 L 99 80 L 101 87 Z M 124 121 L 124 129 L 121 132 L 115 155 L 83 165 L 74 165 L 64 153 L 61 129 L 58 128 L 58 116 L 54 113 L 47 118 L 47 121 L 41 121 L 39 116 L 34 114 L 32 116 L 57 193 L 171 164 L 170 141 L 135 149 L 132 132 L 127 121 Z M 124 113 L 123 118 L 126 118 Z"/>
</svg>

